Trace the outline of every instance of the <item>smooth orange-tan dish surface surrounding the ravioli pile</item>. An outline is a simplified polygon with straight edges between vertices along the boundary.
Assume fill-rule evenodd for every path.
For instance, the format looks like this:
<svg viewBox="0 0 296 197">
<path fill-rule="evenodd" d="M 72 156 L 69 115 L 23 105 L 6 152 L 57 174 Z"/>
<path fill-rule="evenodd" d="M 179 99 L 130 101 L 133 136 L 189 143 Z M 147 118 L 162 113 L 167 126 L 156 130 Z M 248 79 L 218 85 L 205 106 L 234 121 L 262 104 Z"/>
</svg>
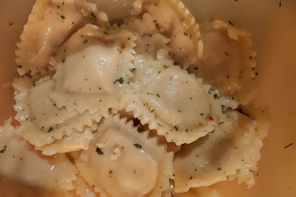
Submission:
<svg viewBox="0 0 296 197">
<path fill-rule="evenodd" d="M 183 2 L 197 21 L 230 20 L 235 26 L 253 33 L 260 77 L 259 92 L 253 103 L 268 107 L 271 116 L 272 126 L 263 140 L 256 184 L 247 190 L 234 181 L 222 182 L 216 189 L 221 197 L 295 197 L 296 1 L 283 0 L 282 7 L 279 7 L 279 0 Z M 0 0 L 0 123 L 14 115 L 13 89 L 2 85 L 17 76 L 15 43 L 19 41 L 33 4 L 34 0 Z M 284 149 L 290 143 L 295 144 Z"/>
</svg>

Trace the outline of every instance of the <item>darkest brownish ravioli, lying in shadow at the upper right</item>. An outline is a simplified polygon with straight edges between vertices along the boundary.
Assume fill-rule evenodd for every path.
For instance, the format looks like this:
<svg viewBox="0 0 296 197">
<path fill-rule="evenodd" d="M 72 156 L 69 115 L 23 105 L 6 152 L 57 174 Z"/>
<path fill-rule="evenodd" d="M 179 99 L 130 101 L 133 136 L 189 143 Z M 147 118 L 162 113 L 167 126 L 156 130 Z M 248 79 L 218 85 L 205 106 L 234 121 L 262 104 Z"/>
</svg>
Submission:
<svg viewBox="0 0 296 197">
<path fill-rule="evenodd" d="M 190 66 L 189 73 L 218 89 L 227 107 L 248 104 L 256 95 L 258 78 L 251 34 L 218 20 L 200 26 L 203 57 Z"/>
</svg>

